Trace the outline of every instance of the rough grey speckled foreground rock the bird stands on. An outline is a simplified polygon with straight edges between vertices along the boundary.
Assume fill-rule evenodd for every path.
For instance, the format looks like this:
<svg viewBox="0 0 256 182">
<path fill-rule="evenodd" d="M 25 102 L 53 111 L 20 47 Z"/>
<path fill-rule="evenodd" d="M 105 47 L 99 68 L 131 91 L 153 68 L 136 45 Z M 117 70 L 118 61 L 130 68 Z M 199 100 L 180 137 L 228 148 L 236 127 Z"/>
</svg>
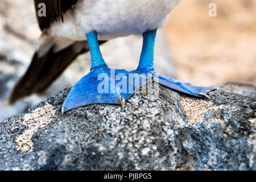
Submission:
<svg viewBox="0 0 256 182">
<path fill-rule="evenodd" d="M 255 170 L 256 100 L 163 86 L 61 115 L 70 88 L 0 122 L 1 170 Z"/>
</svg>

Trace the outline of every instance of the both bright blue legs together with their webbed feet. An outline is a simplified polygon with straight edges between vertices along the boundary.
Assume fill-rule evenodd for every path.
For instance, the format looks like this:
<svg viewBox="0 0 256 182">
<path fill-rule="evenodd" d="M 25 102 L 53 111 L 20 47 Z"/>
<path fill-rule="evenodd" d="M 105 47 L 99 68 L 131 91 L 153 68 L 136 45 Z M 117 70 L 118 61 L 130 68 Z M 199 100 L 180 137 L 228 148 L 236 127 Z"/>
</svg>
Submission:
<svg viewBox="0 0 256 182">
<path fill-rule="evenodd" d="M 154 44 L 156 30 L 143 34 L 143 48 L 139 66 L 135 71 L 110 69 L 102 58 L 97 33 L 86 34 L 92 67 L 88 75 L 73 86 L 62 106 L 63 113 L 89 104 L 121 104 L 154 77 L 155 82 L 179 92 L 205 97 L 213 88 L 196 86 L 160 75 L 154 71 Z M 137 82 L 135 81 L 137 80 Z M 121 82 L 122 81 L 122 82 Z"/>
</svg>

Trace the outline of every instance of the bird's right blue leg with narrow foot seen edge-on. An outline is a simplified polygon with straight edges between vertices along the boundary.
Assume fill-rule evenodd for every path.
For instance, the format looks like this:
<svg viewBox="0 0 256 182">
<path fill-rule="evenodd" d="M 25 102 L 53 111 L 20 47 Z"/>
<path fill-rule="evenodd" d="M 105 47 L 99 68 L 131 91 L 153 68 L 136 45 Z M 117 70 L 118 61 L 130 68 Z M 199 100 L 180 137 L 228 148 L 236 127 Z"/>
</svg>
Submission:
<svg viewBox="0 0 256 182">
<path fill-rule="evenodd" d="M 147 31 L 143 34 L 143 48 L 139 67 L 134 73 L 150 73 L 154 76 L 154 80 L 159 84 L 167 86 L 168 88 L 177 90 L 179 92 L 191 94 L 197 97 L 208 97 L 207 93 L 213 88 L 192 85 L 186 82 L 181 82 L 169 78 L 154 71 L 154 44 L 155 44 L 156 30 Z M 209 97 L 208 97 L 209 98 Z"/>
</svg>

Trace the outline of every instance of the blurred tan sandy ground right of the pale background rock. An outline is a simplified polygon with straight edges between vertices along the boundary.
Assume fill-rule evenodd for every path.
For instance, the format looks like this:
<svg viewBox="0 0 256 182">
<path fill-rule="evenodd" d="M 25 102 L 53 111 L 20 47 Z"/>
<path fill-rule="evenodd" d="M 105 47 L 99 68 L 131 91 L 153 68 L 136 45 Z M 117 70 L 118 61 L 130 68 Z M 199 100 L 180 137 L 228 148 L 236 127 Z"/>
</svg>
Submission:
<svg viewBox="0 0 256 182">
<path fill-rule="evenodd" d="M 210 17 L 210 3 L 217 17 Z M 184 0 L 164 31 L 178 78 L 199 85 L 240 81 L 256 85 L 256 0 Z"/>
</svg>

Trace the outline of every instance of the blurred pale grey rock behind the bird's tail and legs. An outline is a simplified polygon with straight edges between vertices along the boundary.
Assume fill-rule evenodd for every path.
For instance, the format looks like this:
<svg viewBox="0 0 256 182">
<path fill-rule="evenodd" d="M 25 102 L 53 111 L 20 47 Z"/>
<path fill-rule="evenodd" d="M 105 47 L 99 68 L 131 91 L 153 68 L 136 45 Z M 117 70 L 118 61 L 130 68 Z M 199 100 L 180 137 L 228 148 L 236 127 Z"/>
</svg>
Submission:
<svg viewBox="0 0 256 182">
<path fill-rule="evenodd" d="M 89 72 L 89 54 L 79 56 L 42 96 L 28 97 L 11 107 L 7 106 L 7 99 L 15 82 L 30 64 L 39 36 L 33 1 L 0 1 L 0 120 L 26 112 L 28 107 L 75 84 Z M 138 66 L 141 48 L 142 36 L 130 36 L 109 41 L 101 46 L 101 51 L 110 68 L 131 71 Z M 155 53 L 157 71 L 175 77 L 174 60 L 160 30 L 156 37 Z"/>
</svg>

